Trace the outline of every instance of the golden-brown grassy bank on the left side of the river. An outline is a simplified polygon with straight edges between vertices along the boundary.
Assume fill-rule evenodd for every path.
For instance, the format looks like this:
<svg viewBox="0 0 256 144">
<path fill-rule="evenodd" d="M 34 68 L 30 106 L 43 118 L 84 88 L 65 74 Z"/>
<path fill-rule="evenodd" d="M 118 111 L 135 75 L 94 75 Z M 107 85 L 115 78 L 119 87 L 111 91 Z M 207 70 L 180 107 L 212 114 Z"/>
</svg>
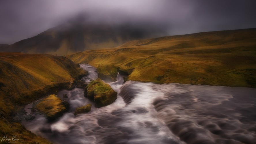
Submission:
<svg viewBox="0 0 256 144">
<path fill-rule="evenodd" d="M 14 114 L 25 104 L 67 88 L 85 74 L 63 56 L 0 53 L 0 135 L 16 135 L 20 143 L 48 143 L 13 121 Z"/>
</svg>

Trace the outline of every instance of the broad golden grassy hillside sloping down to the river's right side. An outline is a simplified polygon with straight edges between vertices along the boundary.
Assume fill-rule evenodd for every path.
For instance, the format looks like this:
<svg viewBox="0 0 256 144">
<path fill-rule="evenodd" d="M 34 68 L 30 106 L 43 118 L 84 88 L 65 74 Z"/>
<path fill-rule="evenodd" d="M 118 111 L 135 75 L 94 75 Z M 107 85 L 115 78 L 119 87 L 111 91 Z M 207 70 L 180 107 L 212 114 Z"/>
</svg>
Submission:
<svg viewBox="0 0 256 144">
<path fill-rule="evenodd" d="M 127 42 L 69 55 L 76 63 L 114 65 L 128 80 L 256 87 L 256 29 Z"/>
</svg>

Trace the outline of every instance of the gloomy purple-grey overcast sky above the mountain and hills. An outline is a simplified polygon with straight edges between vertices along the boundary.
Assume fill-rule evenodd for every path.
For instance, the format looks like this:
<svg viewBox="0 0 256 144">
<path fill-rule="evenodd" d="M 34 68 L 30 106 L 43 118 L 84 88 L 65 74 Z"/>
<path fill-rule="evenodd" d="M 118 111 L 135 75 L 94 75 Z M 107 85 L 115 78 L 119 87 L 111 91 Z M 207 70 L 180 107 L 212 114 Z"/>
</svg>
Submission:
<svg viewBox="0 0 256 144">
<path fill-rule="evenodd" d="M 255 28 L 255 6 L 255 0 L 0 0 L 0 43 L 33 37 L 82 13 L 99 23 L 153 24 L 168 35 Z"/>
</svg>

